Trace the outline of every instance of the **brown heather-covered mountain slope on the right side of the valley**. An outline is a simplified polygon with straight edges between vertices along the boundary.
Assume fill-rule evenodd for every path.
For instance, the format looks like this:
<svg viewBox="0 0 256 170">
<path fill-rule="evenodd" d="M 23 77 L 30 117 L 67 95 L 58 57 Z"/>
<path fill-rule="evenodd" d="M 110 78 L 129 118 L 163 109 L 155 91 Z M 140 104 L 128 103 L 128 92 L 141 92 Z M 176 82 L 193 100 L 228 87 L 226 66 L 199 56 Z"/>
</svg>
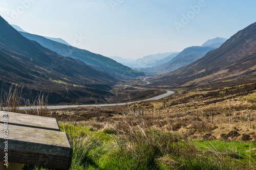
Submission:
<svg viewBox="0 0 256 170">
<path fill-rule="evenodd" d="M 256 74 L 256 22 L 229 38 L 216 50 L 178 70 L 152 78 L 154 85 L 171 88 L 254 82 Z M 251 77 L 251 79 L 249 79 Z"/>
</svg>

